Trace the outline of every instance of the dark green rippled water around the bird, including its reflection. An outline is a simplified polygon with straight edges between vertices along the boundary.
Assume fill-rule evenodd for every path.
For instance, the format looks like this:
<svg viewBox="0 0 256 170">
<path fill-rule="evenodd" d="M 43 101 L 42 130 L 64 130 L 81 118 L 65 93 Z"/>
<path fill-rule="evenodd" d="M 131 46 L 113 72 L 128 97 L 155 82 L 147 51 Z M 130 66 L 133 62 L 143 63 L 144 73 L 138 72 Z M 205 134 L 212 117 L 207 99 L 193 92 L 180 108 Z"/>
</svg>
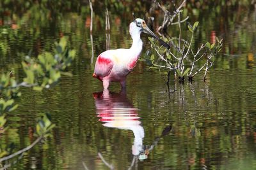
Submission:
<svg viewBox="0 0 256 170">
<path fill-rule="evenodd" d="M 13 71 L 21 81 L 22 56 L 30 49 L 34 56 L 51 51 L 63 35 L 77 50 L 69 69 L 74 76 L 63 76 L 43 92 L 21 89 L 19 108 L 6 115 L 9 129 L 0 134 L 0 144 L 14 142 L 15 150 L 35 140 L 35 120 L 42 113 L 51 113 L 56 124 L 52 138 L 12 169 L 108 169 L 98 153 L 115 169 L 256 169 L 256 10 L 250 3 L 188 3 L 191 22 L 200 21 L 194 43 L 212 41 L 214 34 L 224 39 L 206 83 L 198 76 L 180 85 L 171 77 L 168 90 L 166 74 L 140 61 L 127 78 L 127 92 L 112 83 L 104 95 L 102 83 L 92 78 L 97 55 L 106 50 L 104 5 L 93 3 L 93 57 L 87 1 L 54 5 L 1 2 L 1 73 Z M 108 6 L 110 47 L 129 48 L 131 11 L 143 18 L 151 4 Z M 152 15 L 157 27 L 163 16 Z M 147 35 L 142 39 L 141 58 L 150 50 Z"/>
</svg>

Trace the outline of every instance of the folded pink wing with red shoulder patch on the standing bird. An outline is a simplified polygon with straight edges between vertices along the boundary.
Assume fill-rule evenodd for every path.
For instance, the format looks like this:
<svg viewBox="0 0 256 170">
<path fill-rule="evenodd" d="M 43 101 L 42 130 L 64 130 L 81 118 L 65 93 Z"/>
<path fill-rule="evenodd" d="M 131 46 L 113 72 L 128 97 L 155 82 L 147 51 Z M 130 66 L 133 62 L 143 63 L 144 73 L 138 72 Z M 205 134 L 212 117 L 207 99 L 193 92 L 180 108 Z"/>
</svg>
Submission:
<svg viewBox="0 0 256 170">
<path fill-rule="evenodd" d="M 107 59 L 99 55 L 95 63 L 94 73 L 98 77 L 104 78 L 105 76 L 108 76 L 112 68 L 113 68 L 113 61 L 111 59 Z"/>
</svg>

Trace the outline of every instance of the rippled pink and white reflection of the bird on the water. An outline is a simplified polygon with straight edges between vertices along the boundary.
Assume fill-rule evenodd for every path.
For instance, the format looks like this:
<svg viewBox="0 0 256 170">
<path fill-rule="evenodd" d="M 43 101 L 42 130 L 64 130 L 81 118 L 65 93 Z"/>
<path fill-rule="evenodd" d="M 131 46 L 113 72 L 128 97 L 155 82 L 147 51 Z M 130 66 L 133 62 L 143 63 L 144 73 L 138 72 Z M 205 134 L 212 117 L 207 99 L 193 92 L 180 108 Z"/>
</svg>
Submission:
<svg viewBox="0 0 256 170">
<path fill-rule="evenodd" d="M 141 126 L 138 109 L 128 101 L 125 91 L 119 94 L 104 90 L 93 93 L 97 117 L 105 127 L 131 130 L 134 134 L 132 155 L 143 151 L 144 129 Z"/>
</svg>

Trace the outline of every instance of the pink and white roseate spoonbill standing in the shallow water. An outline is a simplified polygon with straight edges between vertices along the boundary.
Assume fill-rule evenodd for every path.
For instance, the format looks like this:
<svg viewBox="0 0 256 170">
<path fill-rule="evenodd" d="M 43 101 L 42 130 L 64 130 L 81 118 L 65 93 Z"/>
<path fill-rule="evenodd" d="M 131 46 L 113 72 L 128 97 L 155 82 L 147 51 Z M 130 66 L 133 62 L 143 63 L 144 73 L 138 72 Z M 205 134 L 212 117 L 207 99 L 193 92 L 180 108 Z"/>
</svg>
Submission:
<svg viewBox="0 0 256 170">
<path fill-rule="evenodd" d="M 142 50 L 143 43 L 140 38 L 141 32 L 150 34 L 159 40 L 163 46 L 170 48 L 168 44 L 164 43 L 162 39 L 158 38 L 156 34 L 148 28 L 145 20 L 141 18 L 136 18 L 136 20 L 131 22 L 129 32 L 132 37 L 131 48 L 107 50 L 106 52 L 100 53 L 96 60 L 92 76 L 103 81 L 104 89 L 108 89 L 111 81 L 120 82 L 122 89 L 125 89 L 126 76 L 136 66 L 136 62 Z"/>
</svg>

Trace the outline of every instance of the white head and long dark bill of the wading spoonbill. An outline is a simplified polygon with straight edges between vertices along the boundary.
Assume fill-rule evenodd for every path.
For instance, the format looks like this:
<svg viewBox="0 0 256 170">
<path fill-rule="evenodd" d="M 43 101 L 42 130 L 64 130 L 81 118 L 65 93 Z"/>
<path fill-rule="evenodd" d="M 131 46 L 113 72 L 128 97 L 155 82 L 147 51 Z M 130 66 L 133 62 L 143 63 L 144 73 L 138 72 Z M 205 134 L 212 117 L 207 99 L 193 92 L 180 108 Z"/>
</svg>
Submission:
<svg viewBox="0 0 256 170">
<path fill-rule="evenodd" d="M 130 34 L 131 36 L 138 36 L 140 35 L 141 32 L 150 34 L 152 37 L 156 38 L 158 41 L 160 41 L 161 45 L 165 46 L 166 48 L 170 48 L 170 46 L 165 43 L 162 39 L 160 39 L 154 32 L 152 32 L 145 20 L 141 19 L 141 18 L 136 18 L 133 22 L 131 22 L 130 24 Z"/>
</svg>

